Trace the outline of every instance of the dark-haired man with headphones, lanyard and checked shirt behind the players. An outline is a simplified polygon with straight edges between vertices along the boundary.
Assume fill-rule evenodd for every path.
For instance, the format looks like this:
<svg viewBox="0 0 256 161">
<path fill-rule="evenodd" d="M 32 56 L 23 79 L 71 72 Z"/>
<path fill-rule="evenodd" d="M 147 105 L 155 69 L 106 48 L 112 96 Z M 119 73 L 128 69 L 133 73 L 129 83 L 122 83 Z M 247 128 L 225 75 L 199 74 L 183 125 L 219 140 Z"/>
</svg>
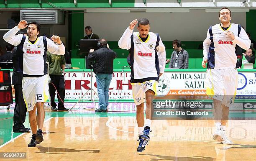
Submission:
<svg viewBox="0 0 256 161">
<path fill-rule="evenodd" d="M 171 59 L 166 60 L 166 64 L 170 62 L 169 68 L 188 69 L 189 55 L 186 50 L 181 48 L 181 41 L 174 40 L 172 47 L 174 51 Z"/>
</svg>

